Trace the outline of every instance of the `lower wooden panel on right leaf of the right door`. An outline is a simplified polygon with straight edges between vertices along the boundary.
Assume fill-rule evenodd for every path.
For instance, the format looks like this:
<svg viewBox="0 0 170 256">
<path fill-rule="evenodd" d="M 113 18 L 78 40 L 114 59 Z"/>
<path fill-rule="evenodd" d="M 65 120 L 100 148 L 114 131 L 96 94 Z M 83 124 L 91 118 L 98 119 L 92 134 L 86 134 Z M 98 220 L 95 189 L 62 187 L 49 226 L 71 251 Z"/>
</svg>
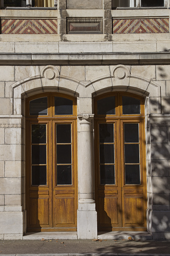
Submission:
<svg viewBox="0 0 170 256">
<path fill-rule="evenodd" d="M 125 224 L 141 226 L 144 224 L 144 198 L 142 196 L 124 197 Z"/>
</svg>

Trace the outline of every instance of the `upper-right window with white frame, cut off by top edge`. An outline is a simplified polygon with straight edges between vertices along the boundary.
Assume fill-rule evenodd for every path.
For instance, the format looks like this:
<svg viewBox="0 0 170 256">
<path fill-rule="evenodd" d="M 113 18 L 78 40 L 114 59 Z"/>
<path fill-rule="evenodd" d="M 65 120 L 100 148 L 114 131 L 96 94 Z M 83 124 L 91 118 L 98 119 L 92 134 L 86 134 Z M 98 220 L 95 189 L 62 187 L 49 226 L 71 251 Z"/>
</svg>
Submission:
<svg viewBox="0 0 170 256">
<path fill-rule="evenodd" d="M 112 8 L 117 7 L 164 7 L 165 0 L 112 0 Z"/>
</svg>

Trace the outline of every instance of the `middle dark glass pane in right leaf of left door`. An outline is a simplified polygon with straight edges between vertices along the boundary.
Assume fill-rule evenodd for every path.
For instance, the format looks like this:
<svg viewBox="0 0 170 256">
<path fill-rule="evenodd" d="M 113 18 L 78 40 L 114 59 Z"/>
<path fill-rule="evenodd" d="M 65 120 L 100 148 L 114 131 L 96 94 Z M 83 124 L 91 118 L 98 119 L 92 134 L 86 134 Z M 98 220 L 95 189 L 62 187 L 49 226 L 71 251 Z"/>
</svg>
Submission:
<svg viewBox="0 0 170 256">
<path fill-rule="evenodd" d="M 71 163 L 71 145 L 57 145 L 57 163 Z"/>
</svg>

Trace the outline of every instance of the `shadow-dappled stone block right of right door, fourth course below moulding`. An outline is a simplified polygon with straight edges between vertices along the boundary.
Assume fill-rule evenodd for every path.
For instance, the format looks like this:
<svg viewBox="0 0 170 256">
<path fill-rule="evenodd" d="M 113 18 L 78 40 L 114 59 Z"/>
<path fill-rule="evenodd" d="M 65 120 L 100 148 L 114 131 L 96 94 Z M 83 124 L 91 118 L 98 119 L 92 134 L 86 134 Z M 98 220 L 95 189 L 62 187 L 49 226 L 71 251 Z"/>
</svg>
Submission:
<svg viewBox="0 0 170 256">
<path fill-rule="evenodd" d="M 153 193 L 170 193 L 170 176 L 152 177 Z"/>
</svg>

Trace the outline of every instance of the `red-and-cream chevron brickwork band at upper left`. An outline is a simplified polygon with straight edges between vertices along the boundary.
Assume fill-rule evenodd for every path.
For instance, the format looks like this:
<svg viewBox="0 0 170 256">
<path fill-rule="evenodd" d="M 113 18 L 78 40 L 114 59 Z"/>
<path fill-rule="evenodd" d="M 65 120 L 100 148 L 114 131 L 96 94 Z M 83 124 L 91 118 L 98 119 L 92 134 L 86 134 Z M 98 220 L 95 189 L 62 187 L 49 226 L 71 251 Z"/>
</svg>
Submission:
<svg viewBox="0 0 170 256">
<path fill-rule="evenodd" d="M 57 19 L 1 19 L 2 34 L 57 34 Z"/>
</svg>

